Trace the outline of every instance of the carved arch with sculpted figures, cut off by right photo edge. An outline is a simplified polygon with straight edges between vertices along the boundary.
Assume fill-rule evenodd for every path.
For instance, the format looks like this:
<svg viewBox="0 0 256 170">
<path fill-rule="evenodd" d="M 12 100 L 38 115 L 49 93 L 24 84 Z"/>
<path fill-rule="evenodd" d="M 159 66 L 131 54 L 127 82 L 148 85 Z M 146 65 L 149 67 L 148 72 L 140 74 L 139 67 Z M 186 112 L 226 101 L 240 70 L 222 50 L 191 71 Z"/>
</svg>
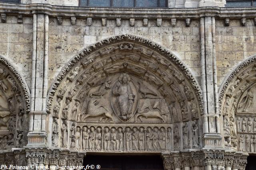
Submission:
<svg viewBox="0 0 256 170">
<path fill-rule="evenodd" d="M 235 68 L 220 90 L 225 147 L 256 152 L 256 56 Z"/>
</svg>

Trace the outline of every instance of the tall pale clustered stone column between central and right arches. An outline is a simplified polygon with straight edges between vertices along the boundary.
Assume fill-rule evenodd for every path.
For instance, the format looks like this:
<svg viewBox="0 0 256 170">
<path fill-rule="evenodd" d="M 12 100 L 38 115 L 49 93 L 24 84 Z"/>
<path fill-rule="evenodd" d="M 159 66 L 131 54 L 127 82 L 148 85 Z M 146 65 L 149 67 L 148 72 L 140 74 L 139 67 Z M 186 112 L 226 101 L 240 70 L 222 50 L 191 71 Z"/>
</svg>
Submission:
<svg viewBox="0 0 256 170">
<path fill-rule="evenodd" d="M 204 147 L 221 147 L 215 55 L 215 18 L 200 19 L 201 82 L 204 101 Z M 206 90 L 207 89 L 207 90 Z"/>
</svg>

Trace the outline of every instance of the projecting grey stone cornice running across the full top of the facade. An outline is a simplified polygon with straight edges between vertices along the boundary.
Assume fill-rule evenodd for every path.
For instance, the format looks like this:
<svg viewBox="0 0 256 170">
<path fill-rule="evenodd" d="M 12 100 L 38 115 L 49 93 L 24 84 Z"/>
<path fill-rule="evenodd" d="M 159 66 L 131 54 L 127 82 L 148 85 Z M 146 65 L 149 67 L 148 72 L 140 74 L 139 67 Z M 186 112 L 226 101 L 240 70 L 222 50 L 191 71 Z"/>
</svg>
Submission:
<svg viewBox="0 0 256 170">
<path fill-rule="evenodd" d="M 200 18 L 203 16 L 215 16 L 217 18 L 254 18 L 256 7 L 240 8 L 96 8 L 78 6 L 52 6 L 49 4 L 14 4 L 0 3 L 0 13 L 9 14 L 48 14 L 49 16 L 81 17 L 81 18 Z"/>
</svg>

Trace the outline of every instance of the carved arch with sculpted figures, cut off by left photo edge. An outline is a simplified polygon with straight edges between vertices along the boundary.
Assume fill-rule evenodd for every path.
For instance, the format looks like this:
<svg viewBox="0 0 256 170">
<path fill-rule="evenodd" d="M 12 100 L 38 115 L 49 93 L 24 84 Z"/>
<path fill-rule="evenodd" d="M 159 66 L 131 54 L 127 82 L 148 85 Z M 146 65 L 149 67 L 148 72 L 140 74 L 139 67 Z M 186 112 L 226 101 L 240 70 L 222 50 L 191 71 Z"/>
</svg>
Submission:
<svg viewBox="0 0 256 170">
<path fill-rule="evenodd" d="M 0 56 L 0 149 L 27 144 L 29 94 L 22 76 Z"/>
</svg>

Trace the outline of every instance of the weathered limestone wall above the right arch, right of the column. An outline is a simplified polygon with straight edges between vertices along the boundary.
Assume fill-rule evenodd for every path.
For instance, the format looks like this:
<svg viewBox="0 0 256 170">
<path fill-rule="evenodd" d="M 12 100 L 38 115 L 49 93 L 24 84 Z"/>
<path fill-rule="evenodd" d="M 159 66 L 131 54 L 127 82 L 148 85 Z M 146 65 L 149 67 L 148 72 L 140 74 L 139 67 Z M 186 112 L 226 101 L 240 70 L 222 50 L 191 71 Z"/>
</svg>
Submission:
<svg viewBox="0 0 256 170">
<path fill-rule="evenodd" d="M 224 20 L 216 20 L 216 60 L 218 86 L 228 73 L 244 59 L 256 54 L 256 28 L 253 20 L 230 20 L 230 26 L 224 26 Z"/>
</svg>

